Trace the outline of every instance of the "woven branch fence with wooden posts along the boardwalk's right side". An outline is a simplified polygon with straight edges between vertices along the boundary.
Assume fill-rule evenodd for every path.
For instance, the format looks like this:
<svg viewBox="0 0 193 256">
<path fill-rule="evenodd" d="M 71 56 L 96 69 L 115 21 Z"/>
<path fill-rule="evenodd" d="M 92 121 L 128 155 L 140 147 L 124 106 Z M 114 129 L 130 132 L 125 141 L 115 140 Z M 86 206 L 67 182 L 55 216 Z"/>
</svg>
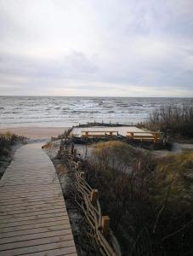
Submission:
<svg viewBox="0 0 193 256">
<path fill-rule="evenodd" d="M 75 172 L 78 192 L 77 204 L 82 208 L 82 212 L 84 212 L 88 224 L 93 230 L 94 240 L 100 252 L 104 256 L 121 256 L 119 243 L 110 229 L 110 218 L 102 215 L 98 190 L 92 189 L 85 180 L 82 163 L 77 159 L 77 149 L 72 146 L 70 151 L 64 149 L 64 145 L 63 147 L 60 145 L 58 156 L 64 158 L 68 166 Z"/>
</svg>

